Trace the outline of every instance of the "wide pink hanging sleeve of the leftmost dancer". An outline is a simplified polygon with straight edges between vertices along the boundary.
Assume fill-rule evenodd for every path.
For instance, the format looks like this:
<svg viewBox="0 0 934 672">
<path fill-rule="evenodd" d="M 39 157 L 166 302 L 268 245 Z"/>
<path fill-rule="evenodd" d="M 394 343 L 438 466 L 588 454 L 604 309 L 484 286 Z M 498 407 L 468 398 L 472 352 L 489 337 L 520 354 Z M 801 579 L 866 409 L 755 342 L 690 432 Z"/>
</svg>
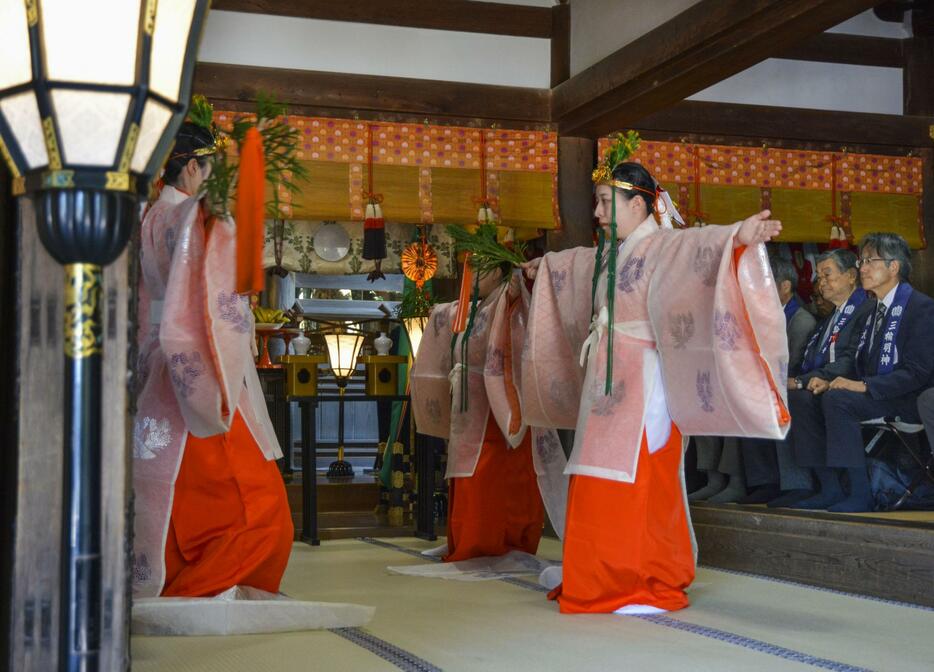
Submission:
<svg viewBox="0 0 934 672">
<path fill-rule="evenodd" d="M 180 225 L 159 341 L 188 431 L 213 436 L 230 429 L 253 368 L 253 316 L 234 291 L 234 223 L 216 220 L 208 237 L 196 199 L 175 207 Z"/>
</svg>

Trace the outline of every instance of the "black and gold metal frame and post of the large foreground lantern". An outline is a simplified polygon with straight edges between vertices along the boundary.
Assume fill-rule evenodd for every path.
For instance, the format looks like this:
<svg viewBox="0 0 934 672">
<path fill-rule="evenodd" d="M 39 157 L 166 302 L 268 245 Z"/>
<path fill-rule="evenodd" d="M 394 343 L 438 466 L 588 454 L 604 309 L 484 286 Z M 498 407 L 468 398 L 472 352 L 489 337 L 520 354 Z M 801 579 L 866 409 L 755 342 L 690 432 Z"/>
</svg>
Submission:
<svg viewBox="0 0 934 672">
<path fill-rule="evenodd" d="M 152 51 L 159 18 L 156 0 L 139 0 L 136 62 L 131 84 L 65 81 L 49 76 L 45 53 L 42 0 L 25 5 L 31 76 L 0 90 L 0 101 L 30 93 L 41 124 L 47 161 L 31 166 L 20 139 L 0 112 L 0 156 L 9 165 L 14 196 L 32 195 L 39 238 L 49 254 L 65 267 L 64 329 L 64 453 L 62 476 L 62 549 L 58 669 L 96 672 L 100 669 L 104 601 L 102 584 L 102 278 L 103 267 L 115 261 L 139 222 L 139 197 L 161 167 L 185 119 L 195 57 L 209 0 L 192 0 L 184 54 L 177 72 L 177 101 L 152 90 Z M 129 0 L 127 0 L 129 1 Z M 187 10 L 187 7 L 186 7 Z M 50 15 L 51 16 L 51 15 Z M 95 26 L 100 17 L 92 17 Z M 77 25 L 73 31 L 81 31 Z M 101 38 L 103 39 L 103 38 Z M 25 54 L 23 54 L 25 55 Z M 178 55 L 178 52 L 175 52 Z M 174 77 L 172 79 L 174 86 Z M 54 91 L 83 91 L 129 96 L 117 148 L 110 164 L 68 161 Z M 144 110 L 154 101 L 168 120 L 141 170 L 132 164 Z M 25 126 L 23 127 L 25 129 Z M 117 126 L 114 126 L 116 130 Z M 158 128 L 158 127 L 157 127 Z M 23 129 L 19 129 L 23 130 Z M 150 136 L 151 137 L 151 136 Z"/>
</svg>

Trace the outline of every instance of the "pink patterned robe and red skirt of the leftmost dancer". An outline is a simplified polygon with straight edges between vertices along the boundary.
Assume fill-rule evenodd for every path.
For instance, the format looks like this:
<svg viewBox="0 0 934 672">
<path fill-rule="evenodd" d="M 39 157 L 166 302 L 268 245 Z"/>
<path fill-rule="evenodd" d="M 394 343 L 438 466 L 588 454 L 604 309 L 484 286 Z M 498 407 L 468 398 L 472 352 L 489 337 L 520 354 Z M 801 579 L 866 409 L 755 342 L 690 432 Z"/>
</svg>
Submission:
<svg viewBox="0 0 934 672">
<path fill-rule="evenodd" d="M 139 597 L 160 595 L 172 579 L 167 543 L 171 560 L 184 569 L 219 554 L 233 567 L 229 577 L 215 576 L 217 585 L 189 583 L 172 594 L 214 594 L 268 565 L 272 579 L 266 582 L 277 587 L 291 546 L 284 485 L 268 462 L 282 452 L 253 363 L 253 316 L 246 298 L 233 291 L 235 226 L 218 219 L 206 232 L 199 207 L 197 199 L 166 186 L 142 224 L 139 320 L 149 329 L 137 370 L 133 432 Z M 196 451 L 188 469 L 186 444 Z M 199 479 L 197 465 L 207 465 L 213 480 Z M 179 509 L 180 473 L 191 484 L 184 502 L 204 506 Z M 237 501 L 230 502 L 231 492 Z M 222 585 L 228 578 L 233 583 Z"/>
</svg>

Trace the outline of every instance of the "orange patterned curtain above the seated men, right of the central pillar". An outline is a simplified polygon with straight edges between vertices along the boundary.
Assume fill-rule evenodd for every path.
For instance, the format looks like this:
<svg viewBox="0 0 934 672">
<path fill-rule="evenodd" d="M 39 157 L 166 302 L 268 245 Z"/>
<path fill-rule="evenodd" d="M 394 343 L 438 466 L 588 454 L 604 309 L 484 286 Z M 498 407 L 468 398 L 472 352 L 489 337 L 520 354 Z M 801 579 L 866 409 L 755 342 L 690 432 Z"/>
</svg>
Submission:
<svg viewBox="0 0 934 672">
<path fill-rule="evenodd" d="M 608 146 L 601 139 L 601 155 Z M 851 242 L 890 231 L 926 245 L 917 157 L 643 141 L 633 160 L 691 220 L 724 224 L 770 208 L 787 242 L 828 243 L 836 222 Z"/>
</svg>

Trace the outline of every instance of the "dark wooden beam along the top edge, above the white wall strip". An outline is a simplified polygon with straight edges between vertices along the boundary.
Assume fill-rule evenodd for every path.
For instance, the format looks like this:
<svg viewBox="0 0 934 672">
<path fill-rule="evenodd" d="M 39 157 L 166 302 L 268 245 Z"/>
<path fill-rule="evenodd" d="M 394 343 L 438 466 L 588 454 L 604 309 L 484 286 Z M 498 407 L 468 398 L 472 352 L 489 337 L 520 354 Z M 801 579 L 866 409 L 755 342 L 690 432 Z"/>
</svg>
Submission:
<svg viewBox="0 0 934 672">
<path fill-rule="evenodd" d="M 551 37 L 551 9 L 468 0 L 214 0 L 213 9 L 517 37 Z"/>
</svg>

